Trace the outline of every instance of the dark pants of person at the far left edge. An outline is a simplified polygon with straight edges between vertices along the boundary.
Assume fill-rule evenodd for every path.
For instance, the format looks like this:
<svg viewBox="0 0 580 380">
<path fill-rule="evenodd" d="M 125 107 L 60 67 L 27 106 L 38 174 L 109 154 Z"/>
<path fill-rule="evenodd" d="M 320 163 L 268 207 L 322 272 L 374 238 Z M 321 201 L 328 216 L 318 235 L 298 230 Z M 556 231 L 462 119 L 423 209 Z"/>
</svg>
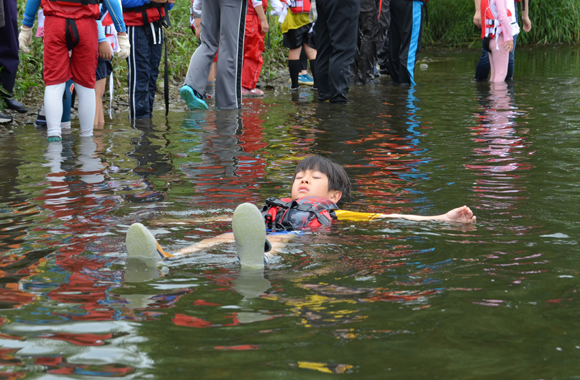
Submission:
<svg viewBox="0 0 580 380">
<path fill-rule="evenodd" d="M 18 14 L 16 0 L 4 1 L 5 25 L 0 28 L 0 83 L 3 96 L 12 97 L 18 71 Z"/>
</svg>

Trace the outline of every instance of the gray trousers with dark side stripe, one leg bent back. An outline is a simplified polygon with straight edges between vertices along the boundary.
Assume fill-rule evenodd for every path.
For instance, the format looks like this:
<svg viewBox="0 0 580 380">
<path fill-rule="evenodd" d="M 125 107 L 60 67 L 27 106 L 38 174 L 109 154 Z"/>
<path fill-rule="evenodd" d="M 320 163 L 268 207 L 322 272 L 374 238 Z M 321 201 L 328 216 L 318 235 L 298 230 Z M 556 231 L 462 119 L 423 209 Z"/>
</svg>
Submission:
<svg viewBox="0 0 580 380">
<path fill-rule="evenodd" d="M 248 0 L 203 0 L 201 44 L 191 56 L 185 84 L 205 91 L 211 63 L 218 51 L 216 107 L 242 106 L 242 64 Z"/>
</svg>

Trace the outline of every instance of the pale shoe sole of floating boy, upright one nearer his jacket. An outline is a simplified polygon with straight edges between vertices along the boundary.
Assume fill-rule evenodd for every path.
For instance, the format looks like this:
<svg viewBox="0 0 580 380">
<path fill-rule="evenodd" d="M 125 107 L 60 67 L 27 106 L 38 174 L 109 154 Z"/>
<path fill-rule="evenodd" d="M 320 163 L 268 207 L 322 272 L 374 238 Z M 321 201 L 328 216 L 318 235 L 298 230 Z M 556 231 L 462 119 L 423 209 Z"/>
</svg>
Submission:
<svg viewBox="0 0 580 380">
<path fill-rule="evenodd" d="M 232 229 L 238 257 L 243 267 L 264 267 L 266 226 L 262 213 L 251 203 L 242 203 L 234 211 Z"/>
</svg>

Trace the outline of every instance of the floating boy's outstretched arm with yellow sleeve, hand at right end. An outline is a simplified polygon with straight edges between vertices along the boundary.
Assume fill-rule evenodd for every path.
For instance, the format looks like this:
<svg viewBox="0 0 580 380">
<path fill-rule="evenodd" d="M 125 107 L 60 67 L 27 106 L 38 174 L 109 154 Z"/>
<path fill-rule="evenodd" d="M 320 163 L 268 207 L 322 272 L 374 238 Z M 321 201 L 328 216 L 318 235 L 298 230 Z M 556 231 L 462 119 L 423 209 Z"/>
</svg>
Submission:
<svg viewBox="0 0 580 380">
<path fill-rule="evenodd" d="M 374 219 L 407 219 L 414 221 L 439 221 L 448 223 L 475 223 L 476 217 L 467 206 L 455 208 L 445 214 L 433 216 L 407 215 L 407 214 L 379 214 L 379 213 L 358 213 L 345 210 L 335 210 L 339 220 L 374 220 Z"/>
</svg>

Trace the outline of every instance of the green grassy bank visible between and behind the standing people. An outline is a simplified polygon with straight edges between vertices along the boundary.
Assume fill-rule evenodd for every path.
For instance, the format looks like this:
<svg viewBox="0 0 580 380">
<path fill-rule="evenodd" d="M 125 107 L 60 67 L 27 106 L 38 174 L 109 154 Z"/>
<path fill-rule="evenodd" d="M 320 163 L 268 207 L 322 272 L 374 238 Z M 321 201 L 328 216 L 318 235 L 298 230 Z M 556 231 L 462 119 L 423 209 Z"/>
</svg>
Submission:
<svg viewBox="0 0 580 380">
<path fill-rule="evenodd" d="M 172 27 L 167 30 L 170 78 L 181 82 L 185 77 L 191 54 L 197 40 L 189 26 L 189 2 L 178 1 L 171 11 Z M 22 19 L 25 2 L 19 2 L 19 19 Z M 580 1 L 531 1 L 532 30 L 521 33 L 520 44 L 578 43 L 580 42 Z M 429 20 L 425 25 L 425 48 L 480 48 L 479 30 L 473 25 L 473 0 L 432 0 L 429 2 Z M 269 43 L 268 43 L 269 39 Z M 286 66 L 287 50 L 282 47 L 282 35 L 276 18 L 271 17 L 271 31 L 266 41 L 262 79 L 275 79 Z M 127 65 L 113 62 L 118 88 L 126 86 Z M 163 70 L 163 63 L 162 63 Z M 21 53 L 19 74 L 15 88 L 16 98 L 38 98 L 43 91 L 42 39 L 33 38 L 30 54 Z M 0 105 L 1 107 L 1 105 Z"/>
</svg>

